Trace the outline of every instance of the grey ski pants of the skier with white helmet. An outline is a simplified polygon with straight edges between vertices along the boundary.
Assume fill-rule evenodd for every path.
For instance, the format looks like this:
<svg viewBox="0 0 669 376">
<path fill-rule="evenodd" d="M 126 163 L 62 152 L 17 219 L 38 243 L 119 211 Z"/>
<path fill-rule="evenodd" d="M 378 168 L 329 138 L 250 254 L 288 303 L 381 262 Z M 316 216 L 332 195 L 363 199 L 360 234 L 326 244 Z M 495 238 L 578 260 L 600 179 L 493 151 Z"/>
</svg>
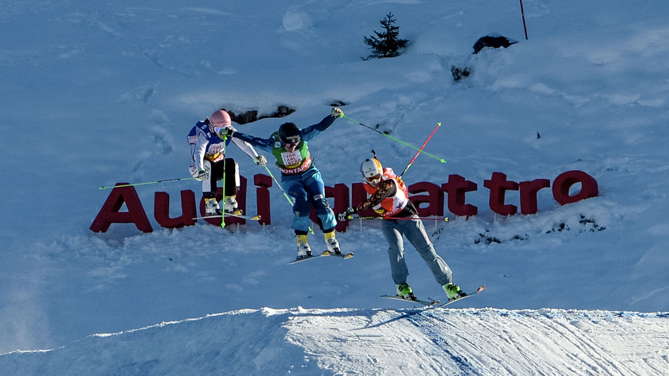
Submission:
<svg viewBox="0 0 669 376">
<path fill-rule="evenodd" d="M 411 220 L 383 220 L 381 230 L 385 239 L 388 240 L 388 256 L 390 258 L 390 270 L 395 285 L 405 283 L 409 276 L 407 263 L 404 261 L 404 241 L 402 236 L 413 245 L 423 260 L 432 270 L 434 278 L 440 285 L 446 285 L 452 281 L 451 268 L 446 261 L 434 250 L 434 245 L 429 241 L 423 221 L 417 216 Z"/>
</svg>

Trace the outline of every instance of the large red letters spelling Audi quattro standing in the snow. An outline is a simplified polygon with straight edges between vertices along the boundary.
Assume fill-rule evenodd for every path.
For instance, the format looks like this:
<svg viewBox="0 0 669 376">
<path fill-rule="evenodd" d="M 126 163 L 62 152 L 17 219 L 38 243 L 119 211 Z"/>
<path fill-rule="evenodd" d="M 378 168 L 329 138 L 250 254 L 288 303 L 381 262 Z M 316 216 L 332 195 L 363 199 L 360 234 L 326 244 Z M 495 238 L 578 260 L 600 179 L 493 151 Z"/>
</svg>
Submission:
<svg viewBox="0 0 669 376">
<path fill-rule="evenodd" d="M 579 192 L 569 195 L 570 188 L 575 184 L 581 184 Z M 127 183 L 117 183 L 123 185 Z M 272 216 L 270 212 L 270 190 L 272 178 L 264 174 L 254 175 L 254 186 L 256 186 L 256 208 L 260 215 L 260 224 L 271 224 Z M 483 186 L 490 190 L 488 200 L 490 210 L 500 215 L 512 215 L 518 212 L 518 207 L 512 204 L 505 204 L 506 191 L 519 191 L 520 194 L 520 213 L 535 214 L 537 212 L 537 194 L 543 188 L 551 187 L 551 181 L 548 179 L 537 179 L 529 182 L 514 182 L 506 178 L 502 172 L 493 172 L 490 180 L 484 180 Z M 240 192 L 237 194 L 237 202 L 240 209 L 246 212 L 246 188 L 247 180 L 240 176 Z M 460 175 L 452 174 L 448 176 L 448 182 L 439 186 L 432 182 L 417 182 L 411 184 L 409 193 L 412 194 L 411 201 L 418 209 L 420 216 L 444 216 L 444 204 L 448 211 L 456 216 L 475 216 L 478 214 L 478 208 L 472 204 L 466 203 L 466 193 L 478 189 L 478 184 L 466 180 Z M 553 198 L 561 205 L 571 204 L 579 200 L 585 200 L 599 194 L 597 180 L 583 171 L 571 170 L 559 174 L 552 184 Z M 448 200 L 444 200 L 444 194 Z M 367 198 L 367 192 L 363 183 L 351 184 L 351 190 L 346 184 L 334 184 L 334 186 L 325 187 L 325 196 L 334 198 L 332 210 L 335 213 L 343 212 L 352 204 L 358 204 Z M 221 200 L 222 189 L 219 188 L 217 198 Z M 123 204 L 126 204 L 127 211 L 121 212 Z M 169 214 L 170 196 L 166 192 L 155 192 L 153 202 L 153 216 L 156 222 L 165 228 L 181 228 L 183 226 L 192 226 L 195 224 L 197 216 L 195 193 L 192 190 L 181 191 L 181 215 L 171 217 Z M 199 213 L 204 214 L 204 199 L 200 198 Z M 373 210 L 359 213 L 361 216 L 373 216 Z M 315 212 L 312 212 L 312 220 L 316 222 Z M 208 218 L 205 221 L 210 224 L 220 226 L 221 218 Z M 339 222 L 337 231 L 345 231 L 349 221 Z M 110 192 L 107 200 L 102 205 L 100 212 L 96 216 L 90 230 L 94 232 L 106 232 L 112 223 L 134 223 L 138 230 L 142 232 L 152 232 L 153 227 L 147 217 L 147 213 L 142 206 L 142 202 L 132 186 L 114 188 Z M 244 218 L 226 217 L 225 224 L 246 224 Z"/>
</svg>

